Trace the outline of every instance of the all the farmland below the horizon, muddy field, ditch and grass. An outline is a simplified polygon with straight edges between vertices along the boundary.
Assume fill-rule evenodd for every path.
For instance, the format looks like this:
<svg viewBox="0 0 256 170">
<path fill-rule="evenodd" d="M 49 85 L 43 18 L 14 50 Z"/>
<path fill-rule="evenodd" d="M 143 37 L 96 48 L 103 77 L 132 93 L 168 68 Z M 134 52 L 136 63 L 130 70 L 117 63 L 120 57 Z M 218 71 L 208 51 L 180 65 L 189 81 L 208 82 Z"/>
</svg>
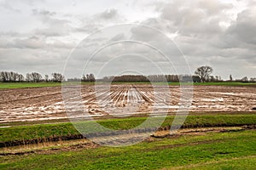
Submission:
<svg viewBox="0 0 256 170">
<path fill-rule="evenodd" d="M 26 86 L 6 84 L 0 90 L 0 168 L 253 169 L 256 164 L 254 86 L 194 86 L 189 116 L 171 135 L 181 98 L 177 84 L 168 93 L 163 84 L 114 83 L 109 92 L 101 85 L 82 84 L 85 110 L 104 127 L 130 129 L 152 111 L 155 116 L 168 113 L 158 131 L 119 148 L 84 139 L 69 122 L 60 84 Z M 133 109 L 131 104 L 138 105 Z"/>
</svg>

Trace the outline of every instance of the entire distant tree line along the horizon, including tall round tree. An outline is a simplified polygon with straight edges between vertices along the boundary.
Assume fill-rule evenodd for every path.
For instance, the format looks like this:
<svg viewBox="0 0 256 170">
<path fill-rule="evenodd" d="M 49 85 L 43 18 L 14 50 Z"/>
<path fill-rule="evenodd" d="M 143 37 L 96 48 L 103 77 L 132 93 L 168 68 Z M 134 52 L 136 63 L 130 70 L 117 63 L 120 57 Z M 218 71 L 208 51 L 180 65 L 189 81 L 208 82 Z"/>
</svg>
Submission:
<svg viewBox="0 0 256 170">
<path fill-rule="evenodd" d="M 195 75 L 122 75 L 118 77 L 103 77 L 98 82 L 224 82 L 220 76 L 211 76 L 211 66 L 201 66 L 195 70 Z M 64 82 L 65 77 L 61 73 L 52 73 L 51 77 L 45 75 L 42 77 L 38 72 L 26 73 L 26 77 L 14 71 L 1 71 L 0 82 Z M 96 77 L 90 74 L 84 74 L 80 78 L 69 78 L 68 82 L 96 82 Z M 256 82 L 256 78 L 242 77 L 227 82 Z"/>
</svg>

